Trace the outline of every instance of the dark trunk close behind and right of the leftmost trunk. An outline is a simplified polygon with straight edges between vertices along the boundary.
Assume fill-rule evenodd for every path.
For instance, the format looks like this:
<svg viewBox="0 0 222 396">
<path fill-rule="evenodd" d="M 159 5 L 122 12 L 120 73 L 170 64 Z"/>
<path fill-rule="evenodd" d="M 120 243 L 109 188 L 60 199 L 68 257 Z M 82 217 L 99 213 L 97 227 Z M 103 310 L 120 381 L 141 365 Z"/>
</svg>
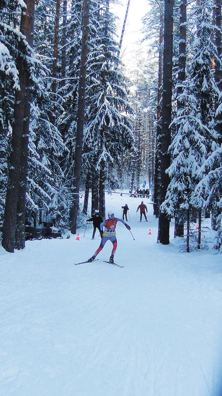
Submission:
<svg viewBox="0 0 222 396">
<path fill-rule="evenodd" d="M 26 36 L 30 47 L 33 48 L 34 40 L 34 0 L 26 0 L 27 9 L 22 9 L 21 32 Z M 21 166 L 19 192 L 17 201 L 16 228 L 15 228 L 15 248 L 24 249 L 25 247 L 25 214 L 26 214 L 26 185 L 28 169 L 28 137 L 31 107 L 31 91 L 29 74 L 26 75 L 26 97 L 24 107 L 23 137 L 21 150 Z"/>
</svg>

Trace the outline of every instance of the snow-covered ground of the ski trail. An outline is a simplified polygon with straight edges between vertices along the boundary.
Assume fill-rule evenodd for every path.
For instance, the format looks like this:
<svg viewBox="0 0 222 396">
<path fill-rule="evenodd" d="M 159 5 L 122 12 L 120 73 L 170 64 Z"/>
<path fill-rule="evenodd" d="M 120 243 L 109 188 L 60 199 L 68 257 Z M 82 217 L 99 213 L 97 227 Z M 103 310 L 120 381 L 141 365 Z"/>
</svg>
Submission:
<svg viewBox="0 0 222 396">
<path fill-rule="evenodd" d="M 144 199 L 147 204 L 149 200 Z M 106 197 L 117 223 L 115 261 L 87 260 L 100 244 L 28 241 L 0 248 L 0 396 L 221 396 L 222 256 L 156 244 L 158 220 L 141 198 Z M 151 229 L 152 235 L 149 234 Z"/>
</svg>

